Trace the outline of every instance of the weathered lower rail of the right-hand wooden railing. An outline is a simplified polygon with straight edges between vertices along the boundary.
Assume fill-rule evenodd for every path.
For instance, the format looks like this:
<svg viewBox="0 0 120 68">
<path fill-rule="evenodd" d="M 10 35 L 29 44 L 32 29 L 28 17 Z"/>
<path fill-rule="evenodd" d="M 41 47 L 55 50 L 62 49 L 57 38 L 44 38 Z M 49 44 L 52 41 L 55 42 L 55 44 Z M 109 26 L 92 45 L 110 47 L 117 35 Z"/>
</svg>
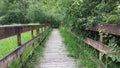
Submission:
<svg viewBox="0 0 120 68">
<path fill-rule="evenodd" d="M 74 33 L 71 32 L 70 30 L 68 30 L 68 32 L 70 32 L 70 33 L 71 33 L 72 35 L 74 35 L 76 38 L 81 39 L 80 36 L 74 34 Z M 109 52 L 109 50 L 110 50 L 110 48 L 109 48 L 107 45 L 103 44 L 102 42 L 94 41 L 94 40 L 92 40 L 92 39 L 90 39 L 90 38 L 87 38 L 87 37 L 84 38 L 84 39 L 81 39 L 81 40 L 83 40 L 85 43 L 87 43 L 88 45 L 92 46 L 92 47 L 95 48 L 96 50 L 100 51 L 101 53 L 102 53 L 102 52 L 107 53 L 107 52 Z M 92 43 L 91 43 L 91 42 L 92 42 Z M 100 43 L 100 44 L 99 44 L 99 43 Z M 94 44 L 94 45 L 92 45 L 92 44 Z M 78 44 L 78 45 L 79 45 L 79 44 Z M 102 62 L 101 62 L 100 60 L 98 61 L 97 59 L 94 58 L 94 61 L 99 62 L 100 68 L 105 68 L 105 66 L 102 64 Z"/>
</svg>

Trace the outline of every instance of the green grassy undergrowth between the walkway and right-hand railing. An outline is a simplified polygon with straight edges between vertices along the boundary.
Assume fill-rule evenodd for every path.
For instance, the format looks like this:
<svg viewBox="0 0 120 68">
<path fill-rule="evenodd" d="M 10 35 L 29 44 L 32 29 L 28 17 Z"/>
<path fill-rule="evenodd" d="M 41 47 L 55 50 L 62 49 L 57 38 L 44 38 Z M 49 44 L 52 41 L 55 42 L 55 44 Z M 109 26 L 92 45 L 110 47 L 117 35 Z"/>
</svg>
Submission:
<svg viewBox="0 0 120 68">
<path fill-rule="evenodd" d="M 85 44 L 82 41 L 82 37 L 78 39 L 63 27 L 60 28 L 60 32 L 64 38 L 63 42 L 69 51 L 69 56 L 76 59 L 76 64 L 79 68 L 100 68 L 101 65 L 105 68 L 119 68 L 119 62 L 111 62 L 112 60 L 105 56 L 103 62 L 99 61 L 99 52 Z"/>
</svg>

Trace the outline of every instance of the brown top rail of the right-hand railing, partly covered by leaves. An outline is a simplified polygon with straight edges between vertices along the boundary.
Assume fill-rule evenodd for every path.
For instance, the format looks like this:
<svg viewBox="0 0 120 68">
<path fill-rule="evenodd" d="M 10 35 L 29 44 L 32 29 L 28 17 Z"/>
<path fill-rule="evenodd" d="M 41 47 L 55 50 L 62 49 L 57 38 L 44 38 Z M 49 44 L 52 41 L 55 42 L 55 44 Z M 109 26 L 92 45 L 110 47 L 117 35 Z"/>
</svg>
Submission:
<svg viewBox="0 0 120 68">
<path fill-rule="evenodd" d="M 120 24 L 104 24 L 104 25 L 95 25 L 93 27 L 88 27 L 86 30 L 91 31 L 102 31 L 109 34 L 120 35 Z"/>
</svg>

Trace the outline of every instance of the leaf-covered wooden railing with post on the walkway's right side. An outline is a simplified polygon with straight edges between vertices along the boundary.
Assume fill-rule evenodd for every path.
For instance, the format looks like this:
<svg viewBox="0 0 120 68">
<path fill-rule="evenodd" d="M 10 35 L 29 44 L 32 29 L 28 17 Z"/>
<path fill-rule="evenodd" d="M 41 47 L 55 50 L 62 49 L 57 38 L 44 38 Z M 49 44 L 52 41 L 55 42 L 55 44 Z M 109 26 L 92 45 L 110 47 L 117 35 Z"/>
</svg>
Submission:
<svg viewBox="0 0 120 68">
<path fill-rule="evenodd" d="M 92 40 L 86 37 L 84 40 L 85 43 L 91 45 L 93 48 L 100 51 L 99 60 L 102 61 L 102 53 L 111 53 L 110 47 L 105 45 L 104 42 L 104 33 L 120 36 L 120 25 L 119 24 L 104 24 L 104 25 L 95 25 L 93 27 L 88 27 L 86 30 L 99 32 L 100 37 L 99 41 Z M 110 57 L 112 57 L 110 55 Z"/>
</svg>

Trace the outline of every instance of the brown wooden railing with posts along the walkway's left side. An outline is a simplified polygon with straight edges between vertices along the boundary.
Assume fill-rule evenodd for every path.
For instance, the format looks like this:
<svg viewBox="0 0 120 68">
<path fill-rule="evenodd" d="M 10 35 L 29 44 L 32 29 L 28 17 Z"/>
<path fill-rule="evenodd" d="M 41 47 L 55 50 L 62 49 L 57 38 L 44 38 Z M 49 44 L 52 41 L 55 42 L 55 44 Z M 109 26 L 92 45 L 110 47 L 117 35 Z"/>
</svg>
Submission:
<svg viewBox="0 0 120 68">
<path fill-rule="evenodd" d="M 49 30 L 49 25 L 20 25 L 20 26 L 0 26 L 0 40 L 4 38 L 8 38 L 14 35 L 17 35 L 17 42 L 18 42 L 18 47 L 13 50 L 11 53 L 0 59 L 0 68 L 8 68 L 8 66 L 16 59 L 20 58 L 21 54 L 30 46 L 34 45 L 35 41 L 40 41 L 40 37 L 44 36 L 46 37 L 48 30 Z M 42 32 L 40 32 L 40 29 L 42 29 Z M 36 30 L 37 35 L 34 36 L 33 30 Z M 21 44 L 21 33 L 31 31 L 31 37 L 32 39 L 27 41 L 24 44 Z M 43 41 L 44 39 L 42 39 Z M 39 46 L 39 44 L 37 45 Z M 37 47 L 36 46 L 36 47 Z M 35 47 L 35 48 L 36 48 Z M 32 50 L 30 54 L 32 53 Z M 29 57 L 29 55 L 27 56 Z M 21 63 L 22 66 L 22 63 Z"/>
</svg>

